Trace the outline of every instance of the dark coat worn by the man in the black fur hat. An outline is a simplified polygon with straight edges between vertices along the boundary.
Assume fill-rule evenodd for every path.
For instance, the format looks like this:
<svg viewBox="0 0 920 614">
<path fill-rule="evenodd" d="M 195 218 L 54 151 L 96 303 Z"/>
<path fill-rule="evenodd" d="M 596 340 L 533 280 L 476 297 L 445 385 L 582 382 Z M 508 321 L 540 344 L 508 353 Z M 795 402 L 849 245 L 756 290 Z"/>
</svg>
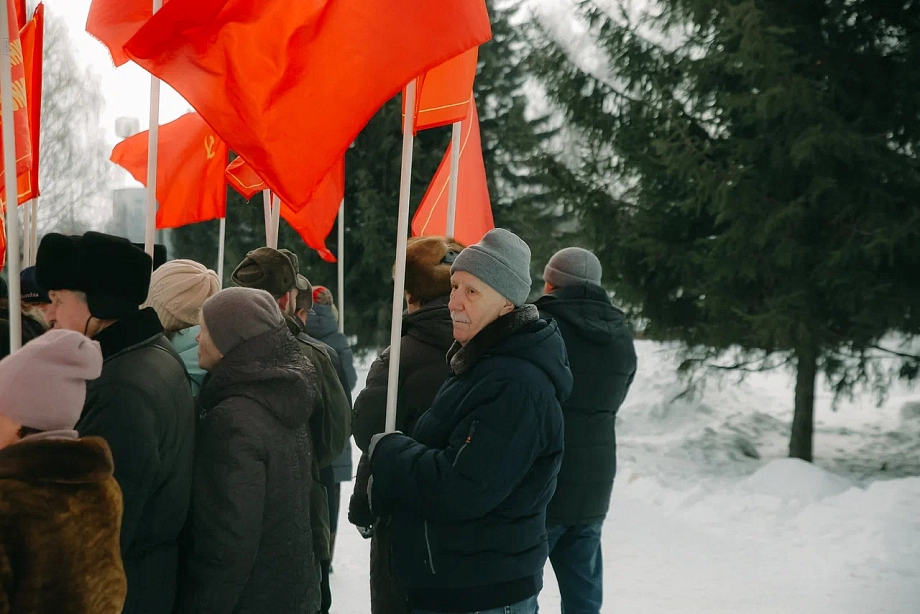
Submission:
<svg viewBox="0 0 920 614">
<path fill-rule="evenodd" d="M 177 538 L 192 489 L 195 413 L 182 359 L 153 309 L 96 335 L 102 376 L 87 383 L 76 429 L 112 449 L 124 495 L 121 553 L 125 614 L 168 614 L 176 593 Z"/>
</svg>

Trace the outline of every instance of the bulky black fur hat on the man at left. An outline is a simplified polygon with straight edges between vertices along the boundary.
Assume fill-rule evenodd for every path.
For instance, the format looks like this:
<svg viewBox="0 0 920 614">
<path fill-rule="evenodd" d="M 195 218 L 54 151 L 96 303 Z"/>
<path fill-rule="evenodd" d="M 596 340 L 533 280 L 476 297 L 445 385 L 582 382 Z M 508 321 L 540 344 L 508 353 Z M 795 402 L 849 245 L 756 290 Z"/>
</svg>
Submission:
<svg viewBox="0 0 920 614">
<path fill-rule="evenodd" d="M 153 260 L 121 237 L 52 233 L 38 247 L 35 268 L 41 287 L 84 292 L 93 317 L 118 320 L 147 300 Z"/>
</svg>

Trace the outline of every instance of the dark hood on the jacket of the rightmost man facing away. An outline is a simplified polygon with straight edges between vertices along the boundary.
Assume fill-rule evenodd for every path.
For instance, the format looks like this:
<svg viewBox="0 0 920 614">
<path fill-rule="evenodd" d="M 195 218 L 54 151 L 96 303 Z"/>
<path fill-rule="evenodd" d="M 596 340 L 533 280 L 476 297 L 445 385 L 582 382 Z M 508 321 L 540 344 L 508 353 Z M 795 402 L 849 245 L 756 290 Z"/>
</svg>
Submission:
<svg viewBox="0 0 920 614">
<path fill-rule="evenodd" d="M 610 345 L 630 335 L 623 312 L 610 303 L 600 286 L 557 288 L 535 304 L 544 317 L 565 322 L 592 345 Z"/>
</svg>

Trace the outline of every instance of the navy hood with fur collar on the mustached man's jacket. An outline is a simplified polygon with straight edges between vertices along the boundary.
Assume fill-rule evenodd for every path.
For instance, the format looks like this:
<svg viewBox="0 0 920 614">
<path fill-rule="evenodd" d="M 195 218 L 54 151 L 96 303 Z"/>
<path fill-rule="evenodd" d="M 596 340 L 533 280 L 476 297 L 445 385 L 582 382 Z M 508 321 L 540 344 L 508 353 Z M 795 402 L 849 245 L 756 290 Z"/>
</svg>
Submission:
<svg viewBox="0 0 920 614">
<path fill-rule="evenodd" d="M 448 353 L 451 368 L 458 375 L 468 372 L 489 356 L 513 356 L 532 363 L 546 373 L 556 388 L 556 398 L 564 401 L 572 393 L 572 371 L 559 325 L 543 320 L 537 308 L 524 305 L 500 317 L 460 347 Z"/>
</svg>

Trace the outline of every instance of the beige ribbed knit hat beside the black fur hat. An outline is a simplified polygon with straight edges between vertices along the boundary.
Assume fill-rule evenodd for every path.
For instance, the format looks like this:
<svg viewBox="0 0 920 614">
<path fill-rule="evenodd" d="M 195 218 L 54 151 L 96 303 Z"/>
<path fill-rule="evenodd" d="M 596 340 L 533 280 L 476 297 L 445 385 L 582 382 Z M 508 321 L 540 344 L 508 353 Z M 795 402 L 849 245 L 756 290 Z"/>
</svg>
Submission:
<svg viewBox="0 0 920 614">
<path fill-rule="evenodd" d="M 220 290 L 217 273 L 193 260 L 171 260 L 150 278 L 144 307 L 153 307 L 167 332 L 200 323 L 201 306 Z"/>
</svg>

